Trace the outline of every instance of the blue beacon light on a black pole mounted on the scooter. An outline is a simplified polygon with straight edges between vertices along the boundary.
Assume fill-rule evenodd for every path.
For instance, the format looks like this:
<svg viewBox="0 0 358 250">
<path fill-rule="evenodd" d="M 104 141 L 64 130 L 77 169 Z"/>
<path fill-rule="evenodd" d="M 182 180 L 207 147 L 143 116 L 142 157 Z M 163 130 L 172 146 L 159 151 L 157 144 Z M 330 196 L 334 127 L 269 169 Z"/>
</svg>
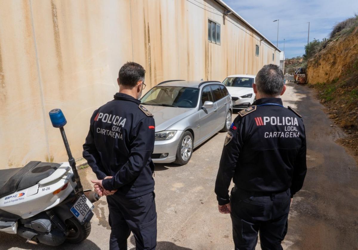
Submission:
<svg viewBox="0 0 358 250">
<path fill-rule="evenodd" d="M 66 123 L 67 123 L 66 118 L 63 115 L 61 109 L 53 109 L 49 112 L 49 115 L 50 115 L 50 120 L 52 122 L 52 126 L 59 128 L 61 131 L 62 140 L 66 147 L 66 151 L 67 151 L 67 155 L 68 155 L 68 162 L 69 162 L 69 165 L 71 166 L 72 171 L 73 171 L 74 181 L 76 181 L 76 184 L 77 184 L 75 192 L 77 195 L 82 195 L 82 194 L 84 194 L 83 187 L 81 184 L 81 179 L 79 178 L 79 175 L 78 175 L 76 161 L 72 157 L 72 153 L 71 153 L 71 149 L 69 148 L 66 133 L 65 133 L 65 130 L 63 129 L 64 125 L 66 125 Z"/>
</svg>

